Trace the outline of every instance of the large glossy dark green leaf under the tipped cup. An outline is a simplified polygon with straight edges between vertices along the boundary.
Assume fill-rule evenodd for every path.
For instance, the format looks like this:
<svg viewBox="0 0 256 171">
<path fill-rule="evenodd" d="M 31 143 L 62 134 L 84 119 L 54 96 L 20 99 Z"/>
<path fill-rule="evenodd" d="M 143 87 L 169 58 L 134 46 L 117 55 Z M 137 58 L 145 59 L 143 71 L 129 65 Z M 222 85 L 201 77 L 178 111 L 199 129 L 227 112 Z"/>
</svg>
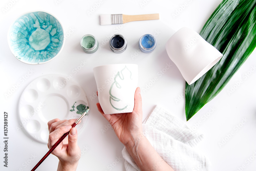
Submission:
<svg viewBox="0 0 256 171">
<path fill-rule="evenodd" d="M 200 35 L 223 57 L 195 83 L 186 83 L 189 120 L 226 86 L 256 46 L 256 0 L 223 0 Z"/>
</svg>

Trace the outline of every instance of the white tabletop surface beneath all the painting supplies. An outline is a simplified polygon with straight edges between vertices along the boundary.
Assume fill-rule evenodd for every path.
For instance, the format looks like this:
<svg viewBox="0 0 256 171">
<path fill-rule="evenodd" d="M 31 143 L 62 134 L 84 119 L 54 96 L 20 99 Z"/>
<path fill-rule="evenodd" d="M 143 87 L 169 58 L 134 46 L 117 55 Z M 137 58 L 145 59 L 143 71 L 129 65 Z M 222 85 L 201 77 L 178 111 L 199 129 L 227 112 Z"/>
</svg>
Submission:
<svg viewBox="0 0 256 171">
<path fill-rule="evenodd" d="M 45 74 L 72 74 L 72 79 L 82 86 L 88 96 L 90 115 L 85 129 L 78 138 L 78 144 L 84 152 L 82 152 L 77 170 L 125 170 L 124 159 L 115 163 L 118 161 L 116 158 L 122 158 L 121 151 L 124 146 L 111 128 L 102 133 L 104 127 L 108 126 L 108 122 L 97 110 L 98 99 L 90 100 L 90 96 L 93 97 L 97 91 L 92 68 L 104 64 L 138 64 L 138 86 L 142 89 L 143 119 L 156 104 L 159 104 L 185 122 L 185 99 L 183 97 L 185 81 L 177 67 L 168 58 L 164 45 L 173 34 L 173 30 L 177 31 L 184 26 L 199 33 L 221 0 L 59 1 L 18 0 L 10 8 L 6 8 L 6 5 L 8 6 L 11 1 L 1 1 L 0 128 L 3 132 L 3 114 L 8 112 L 9 167 L 3 167 L 2 142 L 4 135 L 1 133 L 0 170 L 31 170 L 48 151 L 46 144 L 30 138 L 24 128 L 17 129 L 21 124 L 18 119 L 17 106 L 23 90 L 31 81 Z M 101 4 L 96 7 L 95 4 L 99 4 L 99 2 Z M 185 2 L 188 5 L 184 9 L 180 9 L 180 14 L 174 17 L 173 14 Z M 91 10 L 91 7 L 94 7 L 95 10 L 89 15 L 88 11 Z M 3 12 L 3 9 L 8 10 Z M 21 14 L 39 10 L 47 11 L 59 19 L 66 33 L 66 42 L 56 59 L 47 64 L 32 66 L 18 61 L 12 55 L 7 44 L 7 31 L 12 22 Z M 100 26 L 100 14 L 151 13 L 160 13 L 160 21 L 132 22 L 123 26 Z M 126 37 L 128 46 L 124 53 L 115 54 L 110 50 L 108 36 L 110 37 L 111 33 L 120 33 Z M 138 40 L 146 33 L 157 34 L 157 47 L 151 54 L 136 53 L 137 50 L 140 52 Z M 107 43 L 101 46 L 96 53 L 86 54 L 80 47 L 80 39 L 85 34 L 97 37 L 101 45 L 104 45 L 102 42 L 105 39 Z M 205 134 L 205 139 L 196 148 L 210 159 L 211 170 L 235 171 L 242 165 L 245 166 L 242 170 L 249 171 L 256 168 L 256 159 L 253 157 L 253 155 L 256 156 L 256 71 L 252 68 L 256 65 L 255 55 L 254 51 L 222 92 L 187 122 L 188 126 Z M 81 61 L 87 62 L 87 65 L 75 73 L 74 69 L 80 66 Z M 166 63 L 170 63 L 172 67 L 160 76 L 159 71 L 165 68 Z M 21 81 L 20 78 L 26 76 L 29 69 L 34 71 L 33 74 L 24 82 Z M 250 73 L 250 70 L 253 72 Z M 248 77 L 245 74 L 250 75 Z M 154 77 L 157 77 L 158 80 L 147 91 L 143 91 L 143 88 L 146 88 L 146 85 Z M 242 80 L 242 83 L 235 86 L 239 80 Z M 17 83 L 20 83 L 20 86 L 10 97 L 6 98 L 4 94 L 8 93 L 8 90 Z M 228 91 L 232 87 L 236 89 L 230 94 Z M 207 118 L 204 117 L 211 108 L 214 108 L 214 112 Z M 52 115 L 54 117 L 54 114 Z M 247 122 L 242 126 L 240 124 L 240 129 L 235 129 L 234 127 L 239 125 L 244 118 L 247 119 Z M 227 134 L 232 131 L 234 135 L 226 138 L 227 142 L 220 146 L 219 143 L 222 142 L 222 139 L 225 139 Z M 36 156 L 32 161 L 30 160 L 30 158 L 33 159 L 31 155 Z M 251 162 L 247 160 L 250 157 Z M 30 161 L 29 165 L 25 164 Z M 57 164 L 57 157 L 50 155 L 37 170 L 56 170 Z M 115 166 L 111 167 L 113 165 Z"/>
</svg>

